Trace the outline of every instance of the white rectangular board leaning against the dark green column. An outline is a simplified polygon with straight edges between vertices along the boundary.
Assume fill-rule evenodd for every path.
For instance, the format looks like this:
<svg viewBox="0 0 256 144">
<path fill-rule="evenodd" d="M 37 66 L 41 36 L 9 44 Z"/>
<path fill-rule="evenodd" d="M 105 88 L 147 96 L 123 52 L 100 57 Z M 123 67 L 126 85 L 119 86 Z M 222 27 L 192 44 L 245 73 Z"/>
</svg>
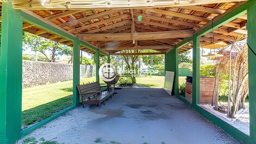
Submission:
<svg viewBox="0 0 256 144">
<path fill-rule="evenodd" d="M 163 89 L 169 94 L 172 95 L 173 91 L 173 81 L 174 81 L 174 72 L 166 71 L 166 76 L 164 78 Z"/>
</svg>

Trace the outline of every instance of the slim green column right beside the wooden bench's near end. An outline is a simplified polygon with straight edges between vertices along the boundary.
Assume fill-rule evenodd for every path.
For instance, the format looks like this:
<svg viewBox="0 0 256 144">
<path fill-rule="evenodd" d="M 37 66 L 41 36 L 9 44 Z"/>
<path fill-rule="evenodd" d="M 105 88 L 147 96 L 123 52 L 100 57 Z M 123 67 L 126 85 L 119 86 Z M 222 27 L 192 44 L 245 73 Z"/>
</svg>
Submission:
<svg viewBox="0 0 256 144">
<path fill-rule="evenodd" d="M 80 103 L 80 96 L 76 85 L 80 84 L 80 41 L 74 40 L 73 45 L 73 104 L 78 106 Z"/>
</svg>

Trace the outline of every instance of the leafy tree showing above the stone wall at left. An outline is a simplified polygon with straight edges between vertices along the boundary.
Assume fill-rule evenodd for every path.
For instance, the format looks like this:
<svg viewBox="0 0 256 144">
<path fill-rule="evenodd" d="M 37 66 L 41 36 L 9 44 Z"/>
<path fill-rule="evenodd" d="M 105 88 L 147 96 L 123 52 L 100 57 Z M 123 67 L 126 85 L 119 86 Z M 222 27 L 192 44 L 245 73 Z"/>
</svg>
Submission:
<svg viewBox="0 0 256 144">
<path fill-rule="evenodd" d="M 57 55 L 69 55 L 72 62 L 72 48 L 65 46 L 61 43 L 47 40 L 44 37 L 33 35 L 30 33 L 23 33 L 23 47 L 31 48 L 32 51 L 38 51 L 44 54 L 45 58 L 49 62 L 55 62 Z M 48 53 L 50 55 L 48 55 Z"/>
</svg>

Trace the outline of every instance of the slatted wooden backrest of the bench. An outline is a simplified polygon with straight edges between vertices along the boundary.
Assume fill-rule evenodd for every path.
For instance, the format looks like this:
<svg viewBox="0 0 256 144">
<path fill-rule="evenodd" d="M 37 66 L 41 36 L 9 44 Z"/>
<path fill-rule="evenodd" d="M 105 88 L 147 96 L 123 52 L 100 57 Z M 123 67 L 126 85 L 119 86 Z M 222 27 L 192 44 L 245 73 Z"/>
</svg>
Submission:
<svg viewBox="0 0 256 144">
<path fill-rule="evenodd" d="M 84 85 L 77 85 L 78 92 L 81 97 L 92 96 L 101 92 L 101 87 L 99 82 L 89 83 Z"/>
</svg>

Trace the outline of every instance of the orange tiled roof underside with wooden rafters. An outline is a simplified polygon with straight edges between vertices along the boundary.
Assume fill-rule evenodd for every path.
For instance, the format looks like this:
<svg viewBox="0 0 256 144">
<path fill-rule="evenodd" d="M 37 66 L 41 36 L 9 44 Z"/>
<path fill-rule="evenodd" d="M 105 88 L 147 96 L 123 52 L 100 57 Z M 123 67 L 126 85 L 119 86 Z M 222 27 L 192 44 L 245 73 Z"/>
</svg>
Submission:
<svg viewBox="0 0 256 144">
<path fill-rule="evenodd" d="M 118 54 L 126 49 L 153 49 L 163 54 L 186 37 L 191 37 L 205 24 L 211 23 L 212 18 L 241 3 L 243 2 L 144 9 L 30 10 L 29 12 L 44 18 L 54 27 L 60 27 L 77 35 L 79 39 L 107 53 Z M 200 45 L 205 46 L 219 41 L 232 43 L 241 34 L 246 37 L 246 22 L 247 15 L 243 15 L 224 24 L 214 30 L 214 37 L 212 33 L 201 37 Z M 23 29 L 72 47 L 72 41 L 32 24 L 24 22 Z M 179 49 L 179 52 L 191 48 L 192 46 L 185 45 Z M 86 47 L 81 49 L 95 53 Z"/>
</svg>

